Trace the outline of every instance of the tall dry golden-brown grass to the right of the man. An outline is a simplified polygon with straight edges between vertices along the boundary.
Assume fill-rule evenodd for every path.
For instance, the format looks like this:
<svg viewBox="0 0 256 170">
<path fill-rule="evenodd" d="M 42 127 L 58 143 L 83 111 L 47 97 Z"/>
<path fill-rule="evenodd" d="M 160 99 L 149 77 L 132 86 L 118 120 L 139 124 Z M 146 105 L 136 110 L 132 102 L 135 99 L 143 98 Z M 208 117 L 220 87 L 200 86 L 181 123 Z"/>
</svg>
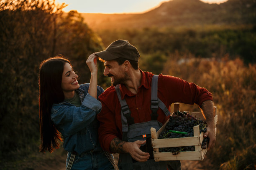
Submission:
<svg viewBox="0 0 256 170">
<path fill-rule="evenodd" d="M 216 145 L 207 152 L 202 167 L 254 170 L 256 65 L 244 65 L 240 59 L 228 60 L 228 56 L 218 60 L 196 59 L 193 55 L 176 53 L 169 57 L 163 73 L 205 87 L 218 107 Z"/>
</svg>

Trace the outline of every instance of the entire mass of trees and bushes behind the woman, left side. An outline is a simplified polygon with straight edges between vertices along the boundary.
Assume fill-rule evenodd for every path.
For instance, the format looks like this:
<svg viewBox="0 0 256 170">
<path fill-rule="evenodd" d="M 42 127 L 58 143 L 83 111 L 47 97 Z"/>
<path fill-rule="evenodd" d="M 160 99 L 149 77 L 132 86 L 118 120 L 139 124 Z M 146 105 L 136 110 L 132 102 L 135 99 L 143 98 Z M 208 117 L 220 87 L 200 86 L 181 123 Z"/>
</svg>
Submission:
<svg viewBox="0 0 256 170">
<path fill-rule="evenodd" d="M 85 61 L 102 50 L 101 40 L 77 12 L 62 15 L 63 7 L 51 0 L 0 1 L 0 157 L 38 150 L 42 60 L 64 54 L 79 71 L 80 83 L 90 82 Z"/>
</svg>

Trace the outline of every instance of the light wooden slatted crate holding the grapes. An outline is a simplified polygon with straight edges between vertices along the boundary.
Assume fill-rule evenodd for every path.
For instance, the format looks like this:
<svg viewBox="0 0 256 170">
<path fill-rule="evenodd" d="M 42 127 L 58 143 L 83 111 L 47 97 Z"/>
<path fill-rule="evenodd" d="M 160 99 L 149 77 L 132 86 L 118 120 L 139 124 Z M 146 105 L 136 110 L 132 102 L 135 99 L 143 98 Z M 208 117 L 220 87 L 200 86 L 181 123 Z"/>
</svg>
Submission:
<svg viewBox="0 0 256 170">
<path fill-rule="evenodd" d="M 214 123 L 217 124 L 218 115 L 216 115 L 217 107 L 214 107 Z M 174 104 L 174 112 L 179 110 L 179 103 Z M 197 119 L 205 120 L 201 112 L 189 112 L 190 115 L 196 117 Z M 201 149 L 201 144 L 203 140 L 203 133 L 200 134 L 199 125 L 194 126 L 194 137 L 187 138 L 168 138 L 168 139 L 158 139 L 160 133 L 164 130 L 166 123 L 156 132 L 155 128 L 151 128 L 151 142 L 154 149 L 154 160 L 164 161 L 164 160 L 203 160 L 207 152 L 206 149 Z M 215 128 L 215 133 L 217 128 Z M 195 151 L 180 152 L 177 155 L 173 155 L 171 152 L 159 152 L 159 148 L 170 148 L 170 147 L 184 147 L 184 146 L 195 146 Z"/>
</svg>

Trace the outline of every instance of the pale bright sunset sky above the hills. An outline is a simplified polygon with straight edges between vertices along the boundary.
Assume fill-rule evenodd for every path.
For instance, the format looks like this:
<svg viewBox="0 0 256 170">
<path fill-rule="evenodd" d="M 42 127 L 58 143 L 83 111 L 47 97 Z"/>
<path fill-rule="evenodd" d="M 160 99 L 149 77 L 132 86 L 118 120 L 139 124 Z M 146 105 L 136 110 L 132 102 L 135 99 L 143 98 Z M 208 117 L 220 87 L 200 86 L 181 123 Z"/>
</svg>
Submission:
<svg viewBox="0 0 256 170">
<path fill-rule="evenodd" d="M 65 3 L 65 12 L 79 13 L 143 13 L 168 0 L 56 0 Z M 222 3 L 227 0 L 201 0 L 207 3 Z"/>
</svg>

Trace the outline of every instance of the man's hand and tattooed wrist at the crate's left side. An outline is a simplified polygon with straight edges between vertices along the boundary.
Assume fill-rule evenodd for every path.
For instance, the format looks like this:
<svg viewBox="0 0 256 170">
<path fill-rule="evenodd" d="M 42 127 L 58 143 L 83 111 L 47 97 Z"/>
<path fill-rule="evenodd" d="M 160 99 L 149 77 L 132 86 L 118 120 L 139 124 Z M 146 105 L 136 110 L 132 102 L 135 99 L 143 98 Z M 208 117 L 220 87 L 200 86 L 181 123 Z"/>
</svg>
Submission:
<svg viewBox="0 0 256 170">
<path fill-rule="evenodd" d="M 138 162 L 146 162 L 150 155 L 149 153 L 145 153 L 140 150 L 141 145 L 145 143 L 146 140 L 125 142 L 118 138 L 114 138 L 110 143 L 110 150 L 114 153 L 129 153 L 134 160 Z"/>
</svg>

